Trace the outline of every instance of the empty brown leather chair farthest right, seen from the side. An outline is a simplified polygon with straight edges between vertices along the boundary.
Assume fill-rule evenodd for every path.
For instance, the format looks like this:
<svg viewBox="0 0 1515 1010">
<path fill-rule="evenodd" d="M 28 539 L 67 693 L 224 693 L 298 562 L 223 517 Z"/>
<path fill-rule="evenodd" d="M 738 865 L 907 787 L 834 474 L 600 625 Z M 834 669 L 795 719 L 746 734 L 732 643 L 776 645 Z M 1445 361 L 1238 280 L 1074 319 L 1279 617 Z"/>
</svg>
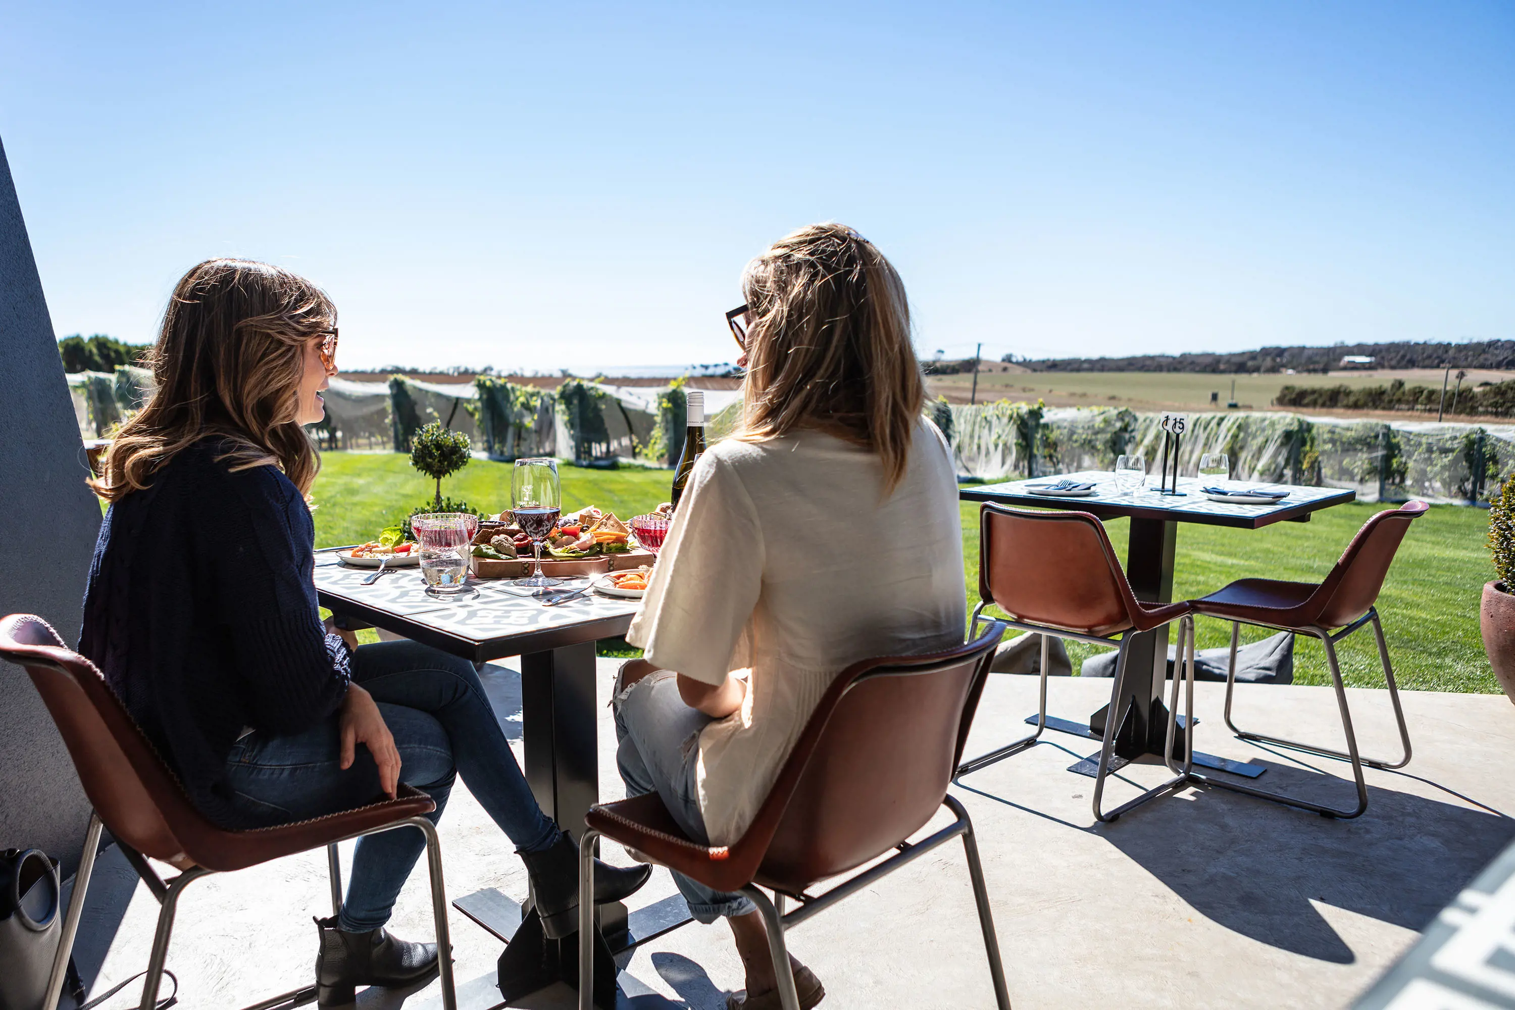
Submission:
<svg viewBox="0 0 1515 1010">
<path fill-rule="evenodd" d="M 1191 771 L 1194 781 L 1233 789 L 1251 796 L 1276 800 L 1292 807 L 1314 810 L 1330 818 L 1356 818 L 1368 809 L 1368 787 L 1362 780 L 1362 766 L 1374 768 L 1404 768 L 1410 760 L 1410 731 L 1404 725 L 1404 710 L 1400 707 L 1400 690 L 1394 683 L 1394 666 L 1389 663 L 1389 648 L 1383 642 L 1383 624 L 1379 621 L 1379 610 L 1374 606 L 1383 578 L 1389 572 L 1404 533 L 1410 522 L 1430 509 L 1424 501 L 1410 501 L 1398 509 L 1380 512 L 1368 519 L 1357 536 L 1351 539 L 1336 566 L 1330 569 L 1324 581 L 1276 581 L 1271 578 L 1239 578 L 1224 589 L 1217 589 L 1207 597 L 1191 601 L 1194 613 L 1220 618 L 1232 622 L 1230 668 L 1226 674 L 1226 725 L 1244 740 L 1259 740 L 1277 743 L 1310 754 L 1338 757 L 1351 762 L 1353 777 L 1357 784 L 1357 806 L 1351 810 L 1324 807 L 1304 800 L 1292 800 L 1282 793 L 1242 786 L 1233 781 L 1210 778 Z M 1336 642 L 1347 637 L 1365 624 L 1373 624 L 1373 633 L 1379 641 L 1379 660 L 1383 663 L 1383 677 L 1389 684 L 1389 703 L 1394 706 L 1394 718 L 1400 725 L 1400 742 L 1404 754 L 1397 760 L 1379 760 L 1357 754 L 1357 736 L 1351 728 L 1351 710 L 1347 707 L 1347 692 L 1341 680 L 1341 665 L 1336 662 Z M 1347 750 L 1336 751 L 1312 743 L 1300 743 L 1277 736 L 1262 733 L 1247 733 L 1232 722 L 1232 690 L 1236 686 L 1236 645 L 1241 641 L 1241 625 L 1253 624 L 1279 631 L 1295 634 L 1314 634 L 1326 648 L 1326 665 L 1330 668 L 1332 684 L 1336 687 L 1336 707 L 1341 710 L 1341 725 L 1347 733 Z"/>
</svg>

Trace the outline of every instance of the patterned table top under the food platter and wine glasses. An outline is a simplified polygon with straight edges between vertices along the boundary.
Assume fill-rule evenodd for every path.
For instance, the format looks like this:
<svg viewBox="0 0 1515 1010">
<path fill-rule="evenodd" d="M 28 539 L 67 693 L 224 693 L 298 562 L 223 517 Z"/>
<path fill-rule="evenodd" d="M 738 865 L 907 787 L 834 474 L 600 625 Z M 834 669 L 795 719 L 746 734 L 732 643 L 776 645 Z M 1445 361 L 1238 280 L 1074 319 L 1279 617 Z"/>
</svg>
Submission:
<svg viewBox="0 0 1515 1010">
<path fill-rule="evenodd" d="M 530 598 L 508 580 L 470 578 L 470 591 L 451 600 L 426 592 L 420 568 L 401 568 L 371 586 L 362 580 L 371 568 L 350 568 L 336 554 L 317 551 L 315 589 L 321 606 L 361 616 L 371 624 L 424 641 L 467 659 L 497 659 L 538 647 L 595 641 L 624 634 L 638 600 L 617 600 L 588 592 L 554 607 Z M 589 578 L 567 578 L 562 589 L 579 589 Z"/>
</svg>

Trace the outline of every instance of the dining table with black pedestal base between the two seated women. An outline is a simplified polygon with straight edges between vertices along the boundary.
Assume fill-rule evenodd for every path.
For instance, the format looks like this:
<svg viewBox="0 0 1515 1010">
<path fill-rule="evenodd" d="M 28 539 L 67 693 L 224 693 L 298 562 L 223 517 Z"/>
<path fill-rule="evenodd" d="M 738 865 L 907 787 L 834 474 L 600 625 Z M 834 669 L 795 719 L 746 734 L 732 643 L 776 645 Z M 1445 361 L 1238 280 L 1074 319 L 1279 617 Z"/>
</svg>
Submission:
<svg viewBox="0 0 1515 1010">
<path fill-rule="evenodd" d="M 338 627 L 376 627 L 477 666 L 520 657 L 523 771 L 547 816 L 576 839 L 585 813 L 600 801 L 595 644 L 630 627 L 638 600 L 594 592 L 588 577 L 553 589 L 585 589 L 553 606 L 511 580 L 468 577 L 453 595 L 427 591 L 418 568 L 374 569 L 339 557 L 345 548 L 315 553 L 315 591 Z M 518 906 L 498 892 L 454 902 L 464 915 L 506 942 L 498 962 L 500 993 L 514 1002 L 553 983 L 577 984 L 577 937 L 548 939 L 530 898 Z M 627 915 L 620 902 L 598 907 L 595 1005 L 615 1005 L 614 955 L 689 921 L 674 895 Z"/>
</svg>

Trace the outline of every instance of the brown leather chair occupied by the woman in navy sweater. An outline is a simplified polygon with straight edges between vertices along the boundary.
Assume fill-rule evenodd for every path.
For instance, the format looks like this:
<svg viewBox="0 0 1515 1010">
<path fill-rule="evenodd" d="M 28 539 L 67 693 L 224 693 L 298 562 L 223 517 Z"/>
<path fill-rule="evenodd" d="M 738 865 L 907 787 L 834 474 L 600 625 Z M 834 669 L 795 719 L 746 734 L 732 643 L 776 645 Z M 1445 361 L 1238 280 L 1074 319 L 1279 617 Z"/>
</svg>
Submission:
<svg viewBox="0 0 1515 1010">
<path fill-rule="evenodd" d="M 447 893 L 442 887 L 442 853 L 436 828 L 424 816 L 436 804 L 424 792 L 400 786 L 398 798 L 371 803 L 323 818 L 274 828 L 227 831 L 211 824 L 195 810 L 168 766 L 158 757 L 142 730 L 106 686 L 100 671 L 70 651 L 45 621 L 29 613 L 0 619 L 0 659 L 23 666 L 47 704 L 58 731 L 74 760 L 85 795 L 94 812 L 85 837 L 83 859 L 74 877 L 74 890 L 64 918 L 62 942 L 53 962 L 47 1001 L 42 1010 L 56 1010 L 64 984 L 64 969 L 73 951 L 79 915 L 83 909 L 89 874 L 94 871 L 102 824 L 121 854 L 141 875 L 162 906 L 158 934 L 142 984 L 142 1010 L 153 1010 L 168 955 L 174 910 L 183 889 L 209 874 L 245 869 L 282 856 L 326 846 L 332 871 L 332 910 L 341 910 L 342 883 L 336 843 L 364 834 L 401 827 L 426 834 L 426 856 L 432 872 L 432 912 L 436 916 L 436 948 L 442 978 L 442 1005 L 456 1010 L 451 945 L 447 936 Z M 173 865 L 179 875 L 165 881 L 148 865 L 152 857 Z M 315 986 L 265 999 L 256 1007 L 300 1005 L 315 999 Z M 256 1010 L 250 1007 L 248 1010 Z"/>
</svg>

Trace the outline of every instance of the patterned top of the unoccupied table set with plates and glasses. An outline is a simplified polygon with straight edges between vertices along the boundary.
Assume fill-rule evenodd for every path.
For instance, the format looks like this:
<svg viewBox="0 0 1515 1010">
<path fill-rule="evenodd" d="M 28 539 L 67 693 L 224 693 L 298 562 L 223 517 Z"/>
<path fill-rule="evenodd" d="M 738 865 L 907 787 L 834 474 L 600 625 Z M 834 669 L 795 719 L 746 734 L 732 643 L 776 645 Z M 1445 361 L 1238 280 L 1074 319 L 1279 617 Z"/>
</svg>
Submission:
<svg viewBox="0 0 1515 1010">
<path fill-rule="evenodd" d="M 1053 498 L 1036 495 L 1027 485 L 1053 485 L 1067 477 L 1068 480 L 1094 482 L 1094 494 L 1086 498 Z M 1288 491 L 1289 497 L 1279 504 L 1236 504 L 1230 501 L 1210 501 L 1201 488 L 1209 482 L 1197 477 L 1180 477 L 1179 495 L 1157 494 L 1157 477 L 1147 477 L 1147 485 L 1135 495 L 1121 494 L 1115 488 L 1115 474 L 1109 471 L 1086 469 L 1076 474 L 1054 474 L 1050 477 L 1035 477 L 1032 480 L 1009 480 L 1000 485 L 965 485 L 959 489 L 959 497 L 967 501 L 1000 501 L 1004 504 L 1036 506 L 1042 509 L 1071 509 L 1077 512 L 1092 512 L 1101 519 L 1120 516 L 1136 516 L 1144 519 L 1165 519 L 1170 522 L 1201 522 L 1206 525 L 1232 525 L 1254 530 L 1285 519 L 1309 519 L 1309 513 L 1317 509 L 1327 509 L 1335 504 L 1353 501 L 1357 492 L 1342 488 L 1303 488 L 1298 485 L 1265 485 L 1254 482 L 1236 482 L 1242 488 L 1264 488 L 1268 491 Z"/>
</svg>

